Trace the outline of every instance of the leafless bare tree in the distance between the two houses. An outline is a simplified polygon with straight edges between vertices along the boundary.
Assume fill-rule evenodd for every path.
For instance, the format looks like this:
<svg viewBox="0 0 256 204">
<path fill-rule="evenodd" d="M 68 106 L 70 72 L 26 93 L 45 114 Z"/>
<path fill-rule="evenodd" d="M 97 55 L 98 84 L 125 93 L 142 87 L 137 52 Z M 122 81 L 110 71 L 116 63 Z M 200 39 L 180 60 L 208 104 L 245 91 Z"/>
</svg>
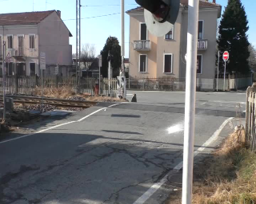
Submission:
<svg viewBox="0 0 256 204">
<path fill-rule="evenodd" d="M 86 43 L 86 45 L 82 46 L 81 61 L 84 64 L 84 69 L 86 71 L 90 70 L 91 65 L 96 61 L 95 53 L 95 45 Z"/>
</svg>

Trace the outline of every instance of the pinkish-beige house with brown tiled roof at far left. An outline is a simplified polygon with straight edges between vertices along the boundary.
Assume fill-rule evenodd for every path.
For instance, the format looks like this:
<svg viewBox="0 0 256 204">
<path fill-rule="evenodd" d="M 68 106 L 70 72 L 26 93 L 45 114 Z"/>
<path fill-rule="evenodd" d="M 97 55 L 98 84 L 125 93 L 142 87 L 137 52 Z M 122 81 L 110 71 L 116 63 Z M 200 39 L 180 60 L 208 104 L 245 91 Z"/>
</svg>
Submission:
<svg viewBox="0 0 256 204">
<path fill-rule="evenodd" d="M 0 14 L 0 70 L 2 72 L 2 42 L 6 41 L 6 74 L 40 75 L 40 53 L 46 53 L 44 75 L 66 76 L 72 68 L 72 34 L 56 10 L 16 14 Z M 0 73 L 2 75 L 2 73 Z"/>
</svg>

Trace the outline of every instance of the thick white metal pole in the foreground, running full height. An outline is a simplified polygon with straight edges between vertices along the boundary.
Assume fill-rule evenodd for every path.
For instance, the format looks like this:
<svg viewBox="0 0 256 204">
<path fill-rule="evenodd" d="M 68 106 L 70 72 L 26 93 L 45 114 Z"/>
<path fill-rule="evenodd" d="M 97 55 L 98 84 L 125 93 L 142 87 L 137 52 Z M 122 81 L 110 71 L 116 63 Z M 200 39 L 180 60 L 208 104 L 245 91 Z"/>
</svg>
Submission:
<svg viewBox="0 0 256 204">
<path fill-rule="evenodd" d="M 199 0 L 189 0 L 186 61 L 186 105 L 183 147 L 182 204 L 192 200 L 194 164 L 194 112 L 196 97 L 196 73 L 198 53 Z"/>
</svg>

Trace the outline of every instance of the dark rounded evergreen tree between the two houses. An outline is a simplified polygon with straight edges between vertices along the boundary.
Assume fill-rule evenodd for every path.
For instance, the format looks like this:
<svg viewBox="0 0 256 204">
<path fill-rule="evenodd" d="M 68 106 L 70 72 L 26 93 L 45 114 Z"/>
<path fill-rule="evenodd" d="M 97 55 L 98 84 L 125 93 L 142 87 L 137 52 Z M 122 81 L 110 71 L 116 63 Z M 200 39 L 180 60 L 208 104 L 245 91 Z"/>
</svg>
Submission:
<svg viewBox="0 0 256 204">
<path fill-rule="evenodd" d="M 111 67 L 113 68 L 113 77 L 118 77 L 118 71 L 121 68 L 122 58 L 121 58 L 121 46 L 117 37 L 108 37 L 106 39 L 106 44 L 101 51 L 102 55 L 102 76 L 108 77 L 108 53 L 112 55 Z"/>
</svg>

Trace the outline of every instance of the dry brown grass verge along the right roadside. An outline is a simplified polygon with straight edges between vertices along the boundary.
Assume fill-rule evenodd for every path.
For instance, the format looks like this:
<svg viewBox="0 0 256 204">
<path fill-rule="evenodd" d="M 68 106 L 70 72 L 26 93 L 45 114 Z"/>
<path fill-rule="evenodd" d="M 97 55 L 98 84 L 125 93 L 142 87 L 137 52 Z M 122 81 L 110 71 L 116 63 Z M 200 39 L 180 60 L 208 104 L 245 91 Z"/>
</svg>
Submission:
<svg viewBox="0 0 256 204">
<path fill-rule="evenodd" d="M 181 198 L 180 188 L 165 203 L 182 203 Z M 243 127 L 237 128 L 218 151 L 194 167 L 192 203 L 256 203 L 256 154 L 246 149 Z"/>
</svg>

